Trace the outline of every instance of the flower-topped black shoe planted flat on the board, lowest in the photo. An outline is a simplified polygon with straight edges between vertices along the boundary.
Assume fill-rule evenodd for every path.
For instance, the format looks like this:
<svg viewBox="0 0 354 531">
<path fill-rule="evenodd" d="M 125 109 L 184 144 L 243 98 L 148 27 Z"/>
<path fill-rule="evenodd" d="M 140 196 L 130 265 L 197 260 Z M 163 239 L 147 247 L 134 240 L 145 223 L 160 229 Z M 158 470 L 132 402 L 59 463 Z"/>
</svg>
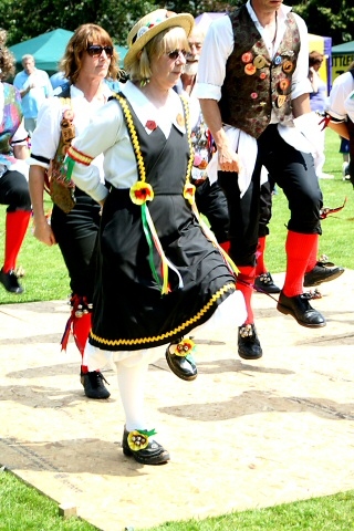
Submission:
<svg viewBox="0 0 354 531">
<path fill-rule="evenodd" d="M 156 440 L 149 440 L 147 436 L 144 434 L 139 434 L 138 430 L 133 431 L 133 439 L 135 446 L 139 446 L 148 440 L 148 445 L 143 448 L 142 450 L 133 450 L 128 442 L 128 435 L 129 431 L 124 428 L 123 434 L 123 454 L 127 457 L 134 457 L 137 462 L 142 462 L 143 465 L 163 465 L 164 462 L 169 461 L 169 454 L 165 448 L 156 442 Z"/>
</svg>

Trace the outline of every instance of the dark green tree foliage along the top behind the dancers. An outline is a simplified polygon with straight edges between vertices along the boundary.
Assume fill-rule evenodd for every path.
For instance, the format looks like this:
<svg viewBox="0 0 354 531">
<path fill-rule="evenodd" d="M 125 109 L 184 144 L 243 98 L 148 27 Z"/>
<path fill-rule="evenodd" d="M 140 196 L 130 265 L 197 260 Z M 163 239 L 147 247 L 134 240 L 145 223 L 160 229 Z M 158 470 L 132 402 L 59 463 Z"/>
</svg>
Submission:
<svg viewBox="0 0 354 531">
<path fill-rule="evenodd" d="M 117 44 L 125 44 L 132 25 L 143 14 L 157 8 L 177 12 L 190 12 L 194 17 L 204 12 L 227 11 L 241 6 L 243 0 L 1 0 L 1 27 L 8 30 L 8 44 L 17 44 L 56 28 L 74 31 L 80 24 L 95 22 L 102 25 Z M 332 37 L 333 44 L 354 39 L 354 7 L 352 0 L 285 1 L 293 6 L 308 23 L 309 31 Z"/>
</svg>

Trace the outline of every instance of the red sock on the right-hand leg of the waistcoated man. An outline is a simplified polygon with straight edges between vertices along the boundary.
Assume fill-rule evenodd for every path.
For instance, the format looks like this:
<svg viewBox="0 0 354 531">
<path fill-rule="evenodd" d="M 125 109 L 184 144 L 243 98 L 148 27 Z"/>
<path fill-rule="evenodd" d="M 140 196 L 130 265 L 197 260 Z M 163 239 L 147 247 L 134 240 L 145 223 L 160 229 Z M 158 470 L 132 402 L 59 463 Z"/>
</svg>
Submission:
<svg viewBox="0 0 354 531">
<path fill-rule="evenodd" d="M 287 296 L 295 296 L 303 293 L 303 277 L 309 263 L 309 257 L 319 244 L 319 235 L 301 235 L 288 231 L 285 242 L 287 274 L 283 293 Z"/>
</svg>

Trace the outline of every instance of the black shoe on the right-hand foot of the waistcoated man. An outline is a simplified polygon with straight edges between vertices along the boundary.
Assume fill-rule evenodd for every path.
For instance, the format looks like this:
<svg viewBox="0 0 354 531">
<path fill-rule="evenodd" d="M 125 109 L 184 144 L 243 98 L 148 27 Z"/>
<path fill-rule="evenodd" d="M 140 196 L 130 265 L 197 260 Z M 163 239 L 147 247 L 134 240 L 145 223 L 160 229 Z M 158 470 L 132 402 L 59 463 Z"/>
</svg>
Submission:
<svg viewBox="0 0 354 531">
<path fill-rule="evenodd" d="M 309 329 L 325 326 L 324 316 L 311 306 L 309 302 L 311 299 L 311 293 L 287 296 L 281 291 L 277 310 L 284 315 L 292 315 L 302 326 L 308 326 Z"/>
</svg>

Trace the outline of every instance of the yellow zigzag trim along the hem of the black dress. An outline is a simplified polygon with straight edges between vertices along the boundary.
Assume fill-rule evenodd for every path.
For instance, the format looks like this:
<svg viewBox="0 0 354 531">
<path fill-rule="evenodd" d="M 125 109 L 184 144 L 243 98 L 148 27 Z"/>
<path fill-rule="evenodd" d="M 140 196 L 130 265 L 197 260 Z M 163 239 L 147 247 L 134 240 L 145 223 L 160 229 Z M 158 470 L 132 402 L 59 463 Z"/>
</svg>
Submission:
<svg viewBox="0 0 354 531">
<path fill-rule="evenodd" d="M 235 283 L 229 283 L 223 285 L 219 291 L 217 291 L 210 299 L 209 302 L 191 319 L 186 321 L 184 324 L 180 324 L 177 326 L 175 330 L 171 330 L 170 332 L 166 332 L 166 334 L 162 335 L 156 335 L 154 337 L 142 337 L 138 340 L 104 340 L 103 337 L 100 337 L 98 335 L 94 334 L 93 332 L 90 333 L 90 336 L 95 340 L 97 343 L 101 343 L 102 345 L 106 346 L 117 346 L 117 345 L 144 345 L 148 343 L 155 343 L 156 341 L 160 340 L 168 340 L 168 337 L 174 336 L 175 334 L 183 333 L 184 330 L 189 326 L 192 323 L 197 323 L 201 319 L 201 316 L 214 305 L 214 303 L 220 299 L 227 291 L 235 291 L 236 287 Z"/>
</svg>

